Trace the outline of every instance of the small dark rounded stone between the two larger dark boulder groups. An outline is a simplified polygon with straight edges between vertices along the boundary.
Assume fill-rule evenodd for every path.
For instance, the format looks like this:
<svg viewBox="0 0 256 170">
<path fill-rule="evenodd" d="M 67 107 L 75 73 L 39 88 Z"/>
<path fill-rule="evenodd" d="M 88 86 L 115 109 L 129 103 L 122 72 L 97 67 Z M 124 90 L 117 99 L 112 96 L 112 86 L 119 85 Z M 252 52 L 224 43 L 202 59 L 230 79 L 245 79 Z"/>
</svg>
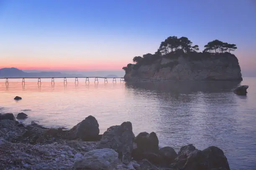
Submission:
<svg viewBox="0 0 256 170">
<path fill-rule="evenodd" d="M 159 150 L 159 155 L 161 156 L 163 163 L 167 165 L 173 163 L 178 154 L 173 148 L 166 146 Z"/>
</svg>

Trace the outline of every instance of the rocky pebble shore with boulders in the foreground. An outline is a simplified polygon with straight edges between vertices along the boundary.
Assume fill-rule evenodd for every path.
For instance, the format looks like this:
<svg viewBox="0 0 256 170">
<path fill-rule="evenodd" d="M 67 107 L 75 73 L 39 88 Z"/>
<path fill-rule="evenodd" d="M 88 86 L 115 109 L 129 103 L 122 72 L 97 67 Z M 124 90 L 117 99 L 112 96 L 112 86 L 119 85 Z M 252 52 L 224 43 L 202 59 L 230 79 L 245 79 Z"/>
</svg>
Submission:
<svg viewBox="0 0 256 170">
<path fill-rule="evenodd" d="M 99 132 L 93 116 L 65 130 L 25 126 L 12 113 L 0 114 L 0 170 L 230 170 L 215 146 L 190 144 L 176 153 L 159 148 L 154 132 L 135 137 L 131 122 Z"/>
</svg>

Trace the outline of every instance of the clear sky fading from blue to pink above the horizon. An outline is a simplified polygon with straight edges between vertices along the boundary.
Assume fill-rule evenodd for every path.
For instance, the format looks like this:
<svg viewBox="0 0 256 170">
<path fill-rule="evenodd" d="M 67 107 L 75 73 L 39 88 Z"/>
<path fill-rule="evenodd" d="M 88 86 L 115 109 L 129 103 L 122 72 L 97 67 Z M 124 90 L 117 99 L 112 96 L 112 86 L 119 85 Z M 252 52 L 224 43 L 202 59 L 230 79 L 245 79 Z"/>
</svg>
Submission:
<svg viewBox="0 0 256 170">
<path fill-rule="evenodd" d="M 234 43 L 256 72 L 254 0 L 0 0 L 0 67 L 121 70 L 174 35 Z"/>
</svg>

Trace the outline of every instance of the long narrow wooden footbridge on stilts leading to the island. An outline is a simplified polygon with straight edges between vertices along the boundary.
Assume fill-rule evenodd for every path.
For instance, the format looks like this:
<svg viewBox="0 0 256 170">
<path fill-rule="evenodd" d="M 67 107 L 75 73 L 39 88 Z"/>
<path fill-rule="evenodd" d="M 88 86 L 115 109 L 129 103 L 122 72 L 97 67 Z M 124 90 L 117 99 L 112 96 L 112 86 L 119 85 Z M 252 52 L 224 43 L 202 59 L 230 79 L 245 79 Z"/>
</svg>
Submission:
<svg viewBox="0 0 256 170">
<path fill-rule="evenodd" d="M 98 83 L 99 82 L 99 78 L 104 78 L 104 82 L 107 83 L 108 79 L 113 79 L 112 82 L 116 82 L 116 79 L 120 78 L 120 82 L 124 82 L 124 77 L 0 77 L 0 79 L 5 79 L 5 84 L 9 84 L 9 79 L 21 79 L 22 78 L 22 84 L 24 83 L 25 85 L 25 79 L 37 79 L 37 84 L 41 84 L 41 79 L 43 78 L 48 78 L 51 79 L 51 84 L 54 84 L 54 79 L 57 78 L 63 78 L 64 79 L 64 83 L 67 84 L 67 78 L 75 78 L 75 83 L 78 83 L 78 78 L 85 78 L 85 83 L 90 83 L 89 78 L 94 78 L 94 83 Z"/>
</svg>

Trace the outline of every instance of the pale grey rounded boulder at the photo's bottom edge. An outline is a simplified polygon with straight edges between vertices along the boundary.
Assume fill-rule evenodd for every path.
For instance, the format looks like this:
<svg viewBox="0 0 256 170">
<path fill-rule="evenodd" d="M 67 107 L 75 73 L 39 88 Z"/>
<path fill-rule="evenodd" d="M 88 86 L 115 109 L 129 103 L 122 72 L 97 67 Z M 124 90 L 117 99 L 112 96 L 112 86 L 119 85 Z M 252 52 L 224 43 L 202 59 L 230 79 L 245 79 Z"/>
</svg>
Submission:
<svg viewBox="0 0 256 170">
<path fill-rule="evenodd" d="M 118 163 L 118 153 L 113 149 L 103 148 L 89 151 L 77 158 L 74 170 L 113 170 Z"/>
</svg>

